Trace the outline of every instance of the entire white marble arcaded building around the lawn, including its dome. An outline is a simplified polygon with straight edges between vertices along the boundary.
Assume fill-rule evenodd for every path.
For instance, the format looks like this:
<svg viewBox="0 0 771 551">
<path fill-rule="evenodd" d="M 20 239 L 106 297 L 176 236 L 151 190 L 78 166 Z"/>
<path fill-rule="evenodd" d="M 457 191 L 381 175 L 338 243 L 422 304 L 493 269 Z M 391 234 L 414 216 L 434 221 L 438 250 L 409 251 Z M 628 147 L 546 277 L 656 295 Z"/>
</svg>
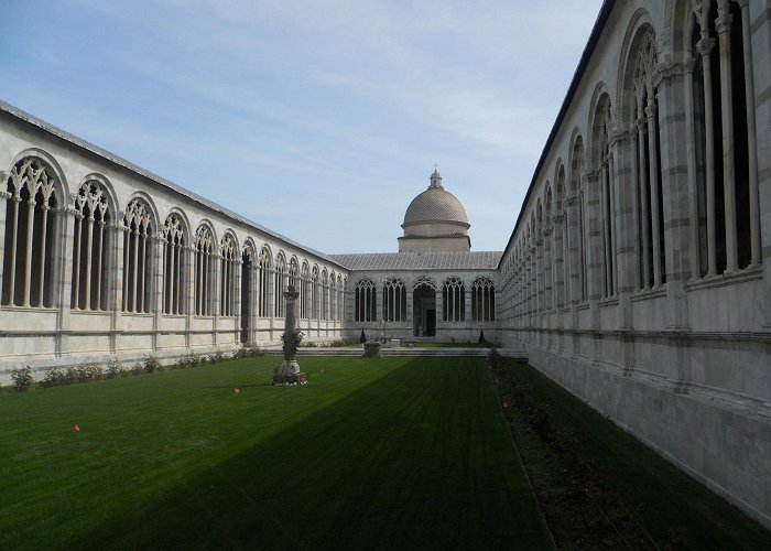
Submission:
<svg viewBox="0 0 771 551">
<path fill-rule="evenodd" d="M 502 252 L 438 173 L 330 256 L 6 104 L 0 180 L 0 382 L 275 344 L 293 282 L 310 341 L 524 347 L 771 527 L 771 0 L 607 0 Z"/>
</svg>

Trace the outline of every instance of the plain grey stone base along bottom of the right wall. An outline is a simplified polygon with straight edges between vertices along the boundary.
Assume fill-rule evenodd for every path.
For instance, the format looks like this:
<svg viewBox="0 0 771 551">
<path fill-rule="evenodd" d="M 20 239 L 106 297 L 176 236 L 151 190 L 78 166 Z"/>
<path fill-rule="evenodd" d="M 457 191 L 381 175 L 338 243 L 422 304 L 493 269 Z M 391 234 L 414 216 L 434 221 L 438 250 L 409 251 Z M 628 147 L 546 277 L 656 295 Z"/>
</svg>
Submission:
<svg viewBox="0 0 771 551">
<path fill-rule="evenodd" d="M 771 404 L 680 388 L 665 377 L 534 343 L 525 347 L 533 367 L 771 528 Z"/>
</svg>

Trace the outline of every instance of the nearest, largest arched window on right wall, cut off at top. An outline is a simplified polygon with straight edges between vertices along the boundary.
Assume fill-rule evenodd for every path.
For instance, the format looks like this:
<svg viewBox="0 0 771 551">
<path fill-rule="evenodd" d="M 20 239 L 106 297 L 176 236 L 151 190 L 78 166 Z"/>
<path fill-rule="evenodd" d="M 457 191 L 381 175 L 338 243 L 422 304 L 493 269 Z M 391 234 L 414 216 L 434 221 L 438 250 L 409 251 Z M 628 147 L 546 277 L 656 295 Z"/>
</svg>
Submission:
<svg viewBox="0 0 771 551">
<path fill-rule="evenodd" d="M 693 128 L 696 195 L 692 276 L 701 277 L 757 266 L 762 252 L 752 56 L 745 51 L 751 43 L 749 2 L 705 0 L 692 8 L 686 125 Z"/>
</svg>

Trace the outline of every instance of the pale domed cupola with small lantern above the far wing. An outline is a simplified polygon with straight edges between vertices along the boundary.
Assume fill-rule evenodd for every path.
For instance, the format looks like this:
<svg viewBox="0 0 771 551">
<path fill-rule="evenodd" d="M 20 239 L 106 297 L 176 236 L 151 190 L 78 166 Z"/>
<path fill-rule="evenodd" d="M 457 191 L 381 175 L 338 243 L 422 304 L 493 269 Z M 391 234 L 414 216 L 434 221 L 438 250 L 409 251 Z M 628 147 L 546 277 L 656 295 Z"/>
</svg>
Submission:
<svg viewBox="0 0 771 551">
<path fill-rule="evenodd" d="M 399 251 L 469 251 L 469 227 L 466 209 L 444 188 L 442 175 L 434 171 L 428 188 L 412 199 L 406 208 Z"/>
</svg>

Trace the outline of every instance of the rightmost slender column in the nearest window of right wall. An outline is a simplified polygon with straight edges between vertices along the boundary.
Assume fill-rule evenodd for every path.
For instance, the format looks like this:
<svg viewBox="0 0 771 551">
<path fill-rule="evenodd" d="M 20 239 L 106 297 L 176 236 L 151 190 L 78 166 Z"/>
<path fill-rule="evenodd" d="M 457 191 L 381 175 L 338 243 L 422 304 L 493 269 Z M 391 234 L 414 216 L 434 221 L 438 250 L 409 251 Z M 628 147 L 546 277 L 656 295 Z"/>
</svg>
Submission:
<svg viewBox="0 0 771 551">
<path fill-rule="evenodd" d="M 752 75 L 752 43 L 750 41 L 749 0 L 736 0 L 741 7 L 741 43 L 745 54 L 745 105 L 747 106 L 747 150 L 749 161 L 750 193 L 750 266 L 759 266 L 762 255 L 760 247 L 760 207 L 758 187 L 758 142 L 754 122 L 754 76 Z"/>
</svg>

